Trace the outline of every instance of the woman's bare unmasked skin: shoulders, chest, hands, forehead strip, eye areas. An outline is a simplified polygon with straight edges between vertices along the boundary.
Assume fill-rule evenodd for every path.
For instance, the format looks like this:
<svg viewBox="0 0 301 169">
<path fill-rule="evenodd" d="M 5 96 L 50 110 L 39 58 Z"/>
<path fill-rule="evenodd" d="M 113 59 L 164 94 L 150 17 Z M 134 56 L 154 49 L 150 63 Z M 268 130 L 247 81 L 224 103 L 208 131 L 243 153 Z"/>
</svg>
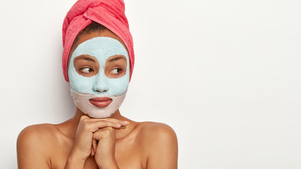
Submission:
<svg viewBox="0 0 301 169">
<path fill-rule="evenodd" d="M 109 30 L 92 32 L 79 37 L 70 55 L 78 44 L 93 37 L 111 37 L 124 45 Z M 97 60 L 85 57 L 74 62 L 77 72 L 87 77 L 97 74 Z M 104 68 L 107 77 L 124 75 L 123 57 L 108 58 Z M 18 136 L 17 152 L 19 168 L 178 168 L 178 142 L 171 127 L 137 123 L 119 110 L 110 118 L 99 119 L 90 118 L 77 108 L 74 117 L 61 124 L 26 127 Z"/>
</svg>

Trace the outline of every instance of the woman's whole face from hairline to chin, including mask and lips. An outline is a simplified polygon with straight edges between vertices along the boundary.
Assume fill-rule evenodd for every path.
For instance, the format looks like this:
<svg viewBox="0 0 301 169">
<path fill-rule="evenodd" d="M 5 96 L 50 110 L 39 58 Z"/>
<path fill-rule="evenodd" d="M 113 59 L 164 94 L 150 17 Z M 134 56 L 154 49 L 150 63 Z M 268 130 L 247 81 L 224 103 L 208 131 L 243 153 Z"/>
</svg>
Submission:
<svg viewBox="0 0 301 169">
<path fill-rule="evenodd" d="M 75 105 L 94 118 L 114 113 L 130 80 L 128 51 L 121 39 L 109 30 L 80 35 L 69 58 L 68 79 Z M 120 96 L 123 99 L 118 101 Z"/>
</svg>

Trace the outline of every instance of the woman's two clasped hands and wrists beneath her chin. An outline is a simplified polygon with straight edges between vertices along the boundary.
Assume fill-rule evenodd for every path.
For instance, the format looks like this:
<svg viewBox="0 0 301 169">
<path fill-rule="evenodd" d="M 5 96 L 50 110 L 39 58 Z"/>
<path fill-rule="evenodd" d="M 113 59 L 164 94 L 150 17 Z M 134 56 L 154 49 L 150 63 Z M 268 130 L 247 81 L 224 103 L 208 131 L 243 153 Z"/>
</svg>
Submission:
<svg viewBox="0 0 301 169">
<path fill-rule="evenodd" d="M 96 119 L 82 115 L 65 168 L 83 168 L 89 156 L 95 155 L 99 168 L 118 168 L 115 160 L 116 129 L 128 122 L 114 118 Z"/>
</svg>

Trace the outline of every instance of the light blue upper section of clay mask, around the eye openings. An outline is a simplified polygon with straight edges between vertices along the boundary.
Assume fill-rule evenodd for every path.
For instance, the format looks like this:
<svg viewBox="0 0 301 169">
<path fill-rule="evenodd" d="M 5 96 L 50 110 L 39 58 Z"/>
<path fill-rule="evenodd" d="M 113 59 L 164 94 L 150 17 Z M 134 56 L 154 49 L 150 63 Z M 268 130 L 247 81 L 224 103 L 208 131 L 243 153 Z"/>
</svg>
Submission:
<svg viewBox="0 0 301 169">
<path fill-rule="evenodd" d="M 97 58 L 99 62 L 99 72 L 92 77 L 84 77 L 75 70 L 74 59 L 77 56 L 90 55 Z M 123 55 L 127 61 L 126 73 L 122 77 L 109 78 L 104 73 L 106 59 L 110 56 Z M 94 37 L 89 39 L 78 47 L 73 52 L 70 58 L 70 65 L 68 69 L 68 78 L 70 80 L 70 87 L 75 92 L 81 94 L 99 94 L 97 91 L 106 90 L 105 95 L 121 96 L 128 89 L 128 82 L 130 80 L 128 51 L 118 40 L 111 37 Z"/>
</svg>

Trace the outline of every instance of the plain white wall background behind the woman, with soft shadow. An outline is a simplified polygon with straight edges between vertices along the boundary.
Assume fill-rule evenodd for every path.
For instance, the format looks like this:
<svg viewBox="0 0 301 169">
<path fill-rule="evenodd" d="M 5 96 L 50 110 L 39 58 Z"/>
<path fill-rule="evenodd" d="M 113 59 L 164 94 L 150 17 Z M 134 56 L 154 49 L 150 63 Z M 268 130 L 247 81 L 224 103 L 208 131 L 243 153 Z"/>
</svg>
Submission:
<svg viewBox="0 0 301 169">
<path fill-rule="evenodd" d="M 0 1 L 0 168 L 27 125 L 73 116 L 61 25 L 74 0 Z M 301 168 L 299 0 L 127 0 L 121 113 L 170 125 L 179 168 Z"/>
</svg>

